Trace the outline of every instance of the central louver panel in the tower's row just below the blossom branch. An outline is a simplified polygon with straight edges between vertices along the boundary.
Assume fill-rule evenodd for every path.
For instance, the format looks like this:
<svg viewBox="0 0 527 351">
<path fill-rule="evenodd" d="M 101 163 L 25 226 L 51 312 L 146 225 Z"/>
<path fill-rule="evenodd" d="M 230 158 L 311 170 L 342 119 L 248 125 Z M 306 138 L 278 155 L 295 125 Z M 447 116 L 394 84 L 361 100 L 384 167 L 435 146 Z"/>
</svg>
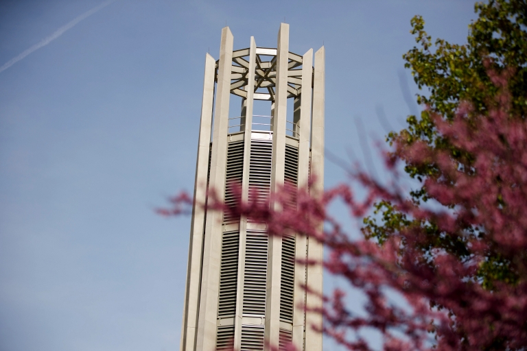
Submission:
<svg viewBox="0 0 527 351">
<path fill-rule="evenodd" d="M 267 278 L 266 232 L 247 232 L 245 244 L 244 316 L 265 317 Z"/>
</svg>

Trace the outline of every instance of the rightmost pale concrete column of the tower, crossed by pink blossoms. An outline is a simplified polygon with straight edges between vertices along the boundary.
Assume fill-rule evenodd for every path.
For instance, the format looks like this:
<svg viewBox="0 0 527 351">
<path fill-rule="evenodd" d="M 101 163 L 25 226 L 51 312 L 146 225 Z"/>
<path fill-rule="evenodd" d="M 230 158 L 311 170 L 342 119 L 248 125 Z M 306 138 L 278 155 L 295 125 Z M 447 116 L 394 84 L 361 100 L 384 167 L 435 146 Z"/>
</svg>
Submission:
<svg viewBox="0 0 527 351">
<path fill-rule="evenodd" d="M 324 89 L 325 89 L 325 49 L 321 47 L 315 53 L 315 74 L 313 82 L 313 114 L 311 134 L 311 174 L 316 176 L 310 193 L 321 197 L 324 191 Z M 318 230 L 323 230 L 320 223 Z M 322 261 L 323 246 L 313 238 L 308 238 L 307 256 L 310 260 Z M 307 286 L 322 293 L 322 272 L 320 265 L 307 267 Z M 320 307 L 322 300 L 313 294 L 307 294 L 307 307 Z M 312 326 L 322 327 L 322 316 L 318 313 L 306 314 L 305 351 L 322 350 L 322 334 L 312 330 Z"/>
</svg>

